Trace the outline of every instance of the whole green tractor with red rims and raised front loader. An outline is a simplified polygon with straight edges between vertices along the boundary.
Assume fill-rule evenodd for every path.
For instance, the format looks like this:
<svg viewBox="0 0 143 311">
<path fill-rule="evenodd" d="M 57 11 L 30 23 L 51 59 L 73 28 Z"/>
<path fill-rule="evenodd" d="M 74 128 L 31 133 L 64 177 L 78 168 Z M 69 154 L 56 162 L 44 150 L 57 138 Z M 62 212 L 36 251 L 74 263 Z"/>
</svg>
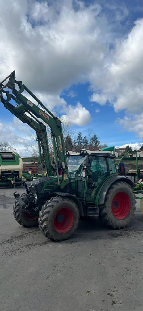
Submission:
<svg viewBox="0 0 143 311">
<path fill-rule="evenodd" d="M 37 104 L 22 95 L 23 91 Z M 135 184 L 118 175 L 115 163 L 118 154 L 114 147 L 99 151 L 65 151 L 61 121 L 22 81 L 15 80 L 15 71 L 1 82 L 0 98 L 6 109 L 36 131 L 41 168 L 44 165 L 47 169 L 46 177 L 25 183 L 26 190 L 21 196 L 14 193 L 13 214 L 20 225 L 39 225 L 47 238 L 62 241 L 74 233 L 79 219 L 84 216 L 98 216 L 104 225 L 115 229 L 129 224 L 135 211 L 132 191 Z M 41 120 L 51 128 L 54 166 L 50 160 L 46 126 Z"/>
</svg>

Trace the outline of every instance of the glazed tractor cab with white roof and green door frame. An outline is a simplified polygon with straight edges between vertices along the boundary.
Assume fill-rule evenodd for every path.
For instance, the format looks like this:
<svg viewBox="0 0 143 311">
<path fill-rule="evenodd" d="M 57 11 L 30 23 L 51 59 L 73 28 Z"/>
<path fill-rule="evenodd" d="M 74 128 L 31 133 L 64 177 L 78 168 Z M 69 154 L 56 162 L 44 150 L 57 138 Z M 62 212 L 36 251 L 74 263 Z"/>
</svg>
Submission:
<svg viewBox="0 0 143 311">
<path fill-rule="evenodd" d="M 94 202 L 101 184 L 117 175 L 115 153 L 111 151 L 66 151 L 68 177 L 76 180 L 77 197 Z"/>
</svg>

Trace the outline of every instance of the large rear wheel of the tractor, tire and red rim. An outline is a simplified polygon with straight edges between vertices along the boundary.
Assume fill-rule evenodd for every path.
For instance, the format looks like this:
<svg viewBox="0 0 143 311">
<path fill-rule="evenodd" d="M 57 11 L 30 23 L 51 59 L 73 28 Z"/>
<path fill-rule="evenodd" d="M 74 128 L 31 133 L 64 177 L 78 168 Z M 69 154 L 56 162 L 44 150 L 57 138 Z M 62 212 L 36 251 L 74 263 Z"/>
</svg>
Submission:
<svg viewBox="0 0 143 311">
<path fill-rule="evenodd" d="M 105 202 L 100 205 L 99 220 L 113 229 L 125 228 L 134 216 L 136 200 L 128 183 L 114 183 L 108 190 Z"/>
</svg>

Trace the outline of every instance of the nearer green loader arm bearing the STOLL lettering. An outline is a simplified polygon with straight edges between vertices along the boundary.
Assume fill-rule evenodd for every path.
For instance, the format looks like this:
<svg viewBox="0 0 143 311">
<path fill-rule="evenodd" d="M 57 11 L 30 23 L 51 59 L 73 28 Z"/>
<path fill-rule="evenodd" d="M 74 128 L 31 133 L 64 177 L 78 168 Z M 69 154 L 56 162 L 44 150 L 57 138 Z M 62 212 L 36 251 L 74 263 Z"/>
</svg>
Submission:
<svg viewBox="0 0 143 311">
<path fill-rule="evenodd" d="M 36 118 L 42 119 L 51 128 L 55 161 L 56 163 L 58 162 L 57 160 L 57 151 L 58 151 L 58 155 L 62 165 L 62 182 L 60 184 L 60 187 L 63 189 L 66 186 L 66 184 L 68 184 L 70 181 L 67 176 L 68 168 L 66 165 L 65 146 L 62 134 L 61 121 L 57 117 L 55 117 L 24 84 L 22 84 L 22 81 L 15 80 L 15 71 L 13 71 L 8 77 L 9 81 L 8 83 L 6 83 L 6 85 L 3 85 L 3 82 L 6 79 L 3 80 L 2 83 L 0 84 L 1 101 L 3 102 L 4 100 L 2 96 L 2 92 L 4 92 L 6 93 L 7 97 L 6 102 L 9 102 L 9 100 L 12 98 L 18 104 L 17 106 L 13 106 L 14 108 L 12 109 L 12 113 L 14 115 L 15 114 L 23 115 L 25 114 L 25 112 L 28 113 L 30 112 Z M 15 84 L 18 84 L 19 91 L 15 89 Z M 11 89 L 12 93 L 15 96 L 10 94 L 8 91 L 7 92 L 4 91 L 4 88 Z M 28 100 L 24 95 L 21 94 L 24 90 L 27 91 L 34 98 L 34 100 L 37 101 L 38 105 L 32 103 L 32 101 Z M 41 108 L 39 107 L 39 105 L 41 106 Z M 58 176 L 58 169 L 57 169 L 57 176 Z"/>
</svg>

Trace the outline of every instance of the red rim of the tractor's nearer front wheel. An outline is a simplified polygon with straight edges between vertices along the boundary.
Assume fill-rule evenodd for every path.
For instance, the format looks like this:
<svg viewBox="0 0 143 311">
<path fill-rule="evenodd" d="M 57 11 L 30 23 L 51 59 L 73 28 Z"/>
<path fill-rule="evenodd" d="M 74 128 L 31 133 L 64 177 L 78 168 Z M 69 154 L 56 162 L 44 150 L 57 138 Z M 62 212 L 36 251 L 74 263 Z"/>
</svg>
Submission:
<svg viewBox="0 0 143 311">
<path fill-rule="evenodd" d="M 60 208 L 54 216 L 54 229 L 59 233 L 68 232 L 74 224 L 74 213 L 69 207 Z"/>
</svg>

